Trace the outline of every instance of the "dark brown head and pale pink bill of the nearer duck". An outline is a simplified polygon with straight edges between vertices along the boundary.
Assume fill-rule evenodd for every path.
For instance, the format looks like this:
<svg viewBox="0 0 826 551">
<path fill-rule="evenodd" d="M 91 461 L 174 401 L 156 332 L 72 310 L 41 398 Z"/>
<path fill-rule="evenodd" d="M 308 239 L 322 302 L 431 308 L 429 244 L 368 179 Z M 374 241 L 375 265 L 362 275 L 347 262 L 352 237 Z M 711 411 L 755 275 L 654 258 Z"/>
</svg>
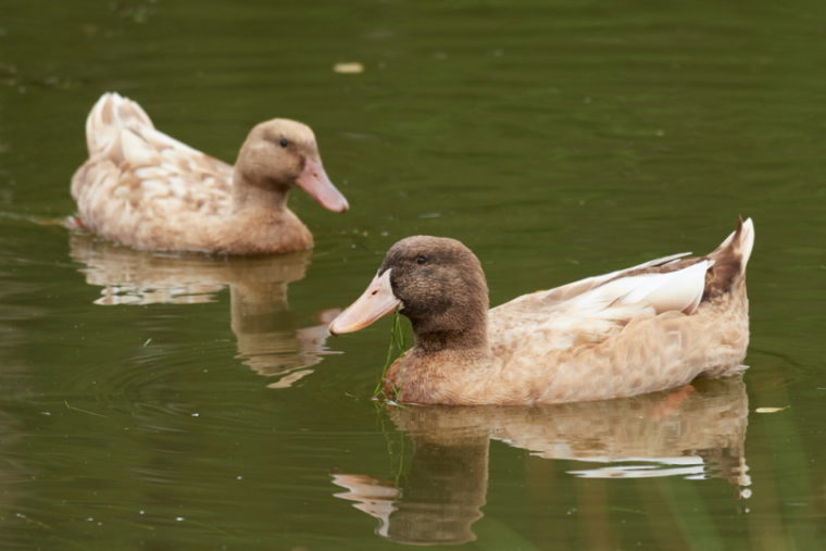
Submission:
<svg viewBox="0 0 826 551">
<path fill-rule="evenodd" d="M 355 331 L 396 309 L 410 318 L 418 346 L 486 342 L 488 287 L 479 260 L 455 239 L 402 239 L 329 330 L 333 335 Z"/>
</svg>

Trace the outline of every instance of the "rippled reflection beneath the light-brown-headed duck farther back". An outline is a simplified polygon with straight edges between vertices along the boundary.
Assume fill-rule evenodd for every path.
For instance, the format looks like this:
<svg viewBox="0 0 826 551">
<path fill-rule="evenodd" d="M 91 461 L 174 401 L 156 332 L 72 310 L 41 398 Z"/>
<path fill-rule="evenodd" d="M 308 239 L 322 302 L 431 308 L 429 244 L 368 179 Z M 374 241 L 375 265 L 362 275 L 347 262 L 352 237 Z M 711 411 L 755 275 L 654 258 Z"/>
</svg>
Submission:
<svg viewBox="0 0 826 551">
<path fill-rule="evenodd" d="M 304 277 L 310 251 L 262 258 L 151 253 L 73 234 L 72 258 L 85 265 L 86 283 L 103 287 L 96 304 L 195 304 L 211 302 L 225 286 L 238 358 L 286 388 L 312 373 L 324 354 L 327 325 L 338 314 L 316 314 L 316 324 L 298 328 L 287 304 L 287 287 Z"/>
</svg>

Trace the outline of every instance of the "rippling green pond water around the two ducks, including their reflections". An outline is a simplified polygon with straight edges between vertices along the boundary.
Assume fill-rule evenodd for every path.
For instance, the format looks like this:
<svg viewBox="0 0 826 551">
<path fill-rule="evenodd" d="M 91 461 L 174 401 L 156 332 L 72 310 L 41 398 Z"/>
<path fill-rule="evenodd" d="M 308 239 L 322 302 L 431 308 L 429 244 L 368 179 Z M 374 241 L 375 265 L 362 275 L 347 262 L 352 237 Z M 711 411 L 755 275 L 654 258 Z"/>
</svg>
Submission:
<svg viewBox="0 0 826 551">
<path fill-rule="evenodd" d="M 3 0 L 0 548 L 822 549 L 824 24 L 816 1 Z M 315 250 L 256 260 L 45 224 L 107 90 L 228 161 L 305 121 L 351 211 L 293 195 Z M 390 321 L 325 341 L 408 235 L 465 241 L 496 304 L 705 252 L 739 214 L 742 379 L 380 409 Z"/>
</svg>

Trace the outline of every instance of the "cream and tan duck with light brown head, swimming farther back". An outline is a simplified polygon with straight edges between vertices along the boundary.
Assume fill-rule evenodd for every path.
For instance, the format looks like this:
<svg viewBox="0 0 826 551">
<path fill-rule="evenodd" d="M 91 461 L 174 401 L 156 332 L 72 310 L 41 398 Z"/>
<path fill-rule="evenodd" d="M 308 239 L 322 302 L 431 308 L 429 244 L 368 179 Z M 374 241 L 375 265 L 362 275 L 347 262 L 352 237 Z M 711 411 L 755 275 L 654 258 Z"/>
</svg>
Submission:
<svg viewBox="0 0 826 551">
<path fill-rule="evenodd" d="M 155 129 L 135 101 L 104 93 L 86 120 L 88 160 L 72 177 L 74 226 L 152 251 L 270 254 L 309 249 L 313 236 L 287 208 L 293 188 L 347 211 L 313 130 L 289 118 L 255 125 L 235 166 Z"/>
</svg>

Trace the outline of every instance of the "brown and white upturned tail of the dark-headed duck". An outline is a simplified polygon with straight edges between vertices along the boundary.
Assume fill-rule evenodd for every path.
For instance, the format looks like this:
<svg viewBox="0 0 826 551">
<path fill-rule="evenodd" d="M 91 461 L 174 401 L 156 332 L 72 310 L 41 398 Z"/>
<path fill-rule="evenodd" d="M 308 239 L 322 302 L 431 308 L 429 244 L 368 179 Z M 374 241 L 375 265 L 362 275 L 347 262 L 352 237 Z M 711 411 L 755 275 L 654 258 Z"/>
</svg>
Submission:
<svg viewBox="0 0 826 551">
<path fill-rule="evenodd" d="M 746 266 L 753 248 L 754 223 L 751 218 L 739 218 L 737 229 L 709 254 L 714 264 L 705 273 L 703 300 L 730 292 L 746 283 Z"/>
</svg>

